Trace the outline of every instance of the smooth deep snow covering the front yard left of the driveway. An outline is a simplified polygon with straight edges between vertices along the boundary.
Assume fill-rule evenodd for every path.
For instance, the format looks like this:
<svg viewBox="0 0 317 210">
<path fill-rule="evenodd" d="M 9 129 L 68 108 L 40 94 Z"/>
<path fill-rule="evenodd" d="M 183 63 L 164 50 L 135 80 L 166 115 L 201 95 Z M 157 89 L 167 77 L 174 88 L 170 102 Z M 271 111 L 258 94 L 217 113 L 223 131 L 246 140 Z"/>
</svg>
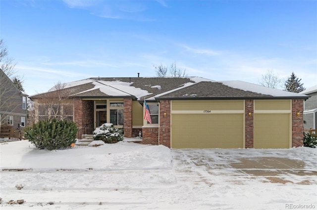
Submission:
<svg viewBox="0 0 317 210">
<path fill-rule="evenodd" d="M 167 147 L 125 141 L 99 147 L 75 146 L 71 149 L 53 151 L 38 150 L 29 141 L 15 141 L 1 144 L 0 168 L 32 168 L 33 170 L 171 168 L 171 158 L 171 152 Z"/>
</svg>

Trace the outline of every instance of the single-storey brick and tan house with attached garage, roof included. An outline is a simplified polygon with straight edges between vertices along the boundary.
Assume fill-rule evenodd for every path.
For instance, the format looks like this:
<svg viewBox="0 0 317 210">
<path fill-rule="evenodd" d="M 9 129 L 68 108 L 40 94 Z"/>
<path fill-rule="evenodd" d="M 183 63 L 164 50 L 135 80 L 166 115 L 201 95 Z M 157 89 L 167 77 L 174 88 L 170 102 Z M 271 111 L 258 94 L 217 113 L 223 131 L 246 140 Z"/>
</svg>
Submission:
<svg viewBox="0 0 317 210">
<path fill-rule="evenodd" d="M 123 128 L 125 137 L 142 131 L 143 144 L 170 148 L 302 146 L 303 101 L 309 98 L 241 81 L 198 77 L 90 78 L 56 91 L 30 97 L 38 119 L 58 113 L 80 130 L 112 123 Z M 48 106 L 50 94 L 64 95 L 60 106 Z M 152 124 L 144 120 L 144 100 Z"/>
</svg>

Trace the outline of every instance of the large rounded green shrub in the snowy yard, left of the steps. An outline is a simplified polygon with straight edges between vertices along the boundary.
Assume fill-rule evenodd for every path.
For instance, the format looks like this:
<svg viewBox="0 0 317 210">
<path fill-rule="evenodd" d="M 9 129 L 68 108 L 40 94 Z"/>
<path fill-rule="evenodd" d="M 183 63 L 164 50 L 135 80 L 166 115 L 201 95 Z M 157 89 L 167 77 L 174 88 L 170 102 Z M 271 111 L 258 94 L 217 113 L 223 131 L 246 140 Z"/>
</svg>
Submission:
<svg viewBox="0 0 317 210">
<path fill-rule="evenodd" d="M 74 122 L 51 118 L 26 127 L 24 131 L 25 138 L 36 148 L 56 150 L 69 147 L 71 143 L 76 142 L 77 126 Z"/>
</svg>

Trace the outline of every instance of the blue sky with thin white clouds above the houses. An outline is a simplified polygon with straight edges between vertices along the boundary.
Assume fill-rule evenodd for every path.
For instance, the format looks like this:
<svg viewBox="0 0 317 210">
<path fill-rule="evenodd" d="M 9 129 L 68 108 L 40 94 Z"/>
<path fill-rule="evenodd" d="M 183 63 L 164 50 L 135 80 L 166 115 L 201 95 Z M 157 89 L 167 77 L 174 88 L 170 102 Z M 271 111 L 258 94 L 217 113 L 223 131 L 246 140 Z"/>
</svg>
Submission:
<svg viewBox="0 0 317 210">
<path fill-rule="evenodd" d="M 317 84 L 317 1 L 1 0 L 0 37 L 29 95 L 90 77 L 187 76 Z"/>
</svg>

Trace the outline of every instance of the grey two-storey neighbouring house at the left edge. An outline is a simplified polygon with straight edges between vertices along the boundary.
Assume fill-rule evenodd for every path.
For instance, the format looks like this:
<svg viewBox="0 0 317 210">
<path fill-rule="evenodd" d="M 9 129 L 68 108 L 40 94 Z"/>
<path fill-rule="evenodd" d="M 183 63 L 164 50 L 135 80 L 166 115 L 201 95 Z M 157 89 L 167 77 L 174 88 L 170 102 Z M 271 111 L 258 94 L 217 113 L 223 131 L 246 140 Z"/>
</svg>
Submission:
<svg viewBox="0 0 317 210">
<path fill-rule="evenodd" d="M 0 125 L 22 130 L 27 123 L 27 94 L 0 69 Z"/>
</svg>

